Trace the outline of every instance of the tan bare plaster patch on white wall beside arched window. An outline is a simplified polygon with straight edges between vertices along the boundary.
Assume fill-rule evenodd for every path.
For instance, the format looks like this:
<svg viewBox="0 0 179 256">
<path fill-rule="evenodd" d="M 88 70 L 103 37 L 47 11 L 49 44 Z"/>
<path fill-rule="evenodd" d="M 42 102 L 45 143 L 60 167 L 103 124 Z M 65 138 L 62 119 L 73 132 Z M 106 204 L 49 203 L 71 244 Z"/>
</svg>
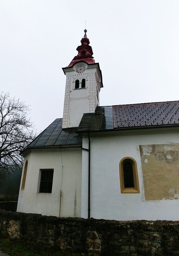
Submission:
<svg viewBox="0 0 179 256">
<path fill-rule="evenodd" d="M 179 144 L 140 145 L 139 148 L 145 200 L 179 199 Z"/>
</svg>

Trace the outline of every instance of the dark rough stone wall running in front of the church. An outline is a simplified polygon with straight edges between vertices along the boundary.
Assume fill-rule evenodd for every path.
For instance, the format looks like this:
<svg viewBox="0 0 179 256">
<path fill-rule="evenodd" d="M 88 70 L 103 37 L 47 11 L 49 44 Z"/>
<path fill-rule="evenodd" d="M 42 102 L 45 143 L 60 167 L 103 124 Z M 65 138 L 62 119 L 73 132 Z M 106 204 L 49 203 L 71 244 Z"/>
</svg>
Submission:
<svg viewBox="0 0 179 256">
<path fill-rule="evenodd" d="M 179 222 L 56 218 L 0 210 L 0 237 L 61 252 L 179 255 Z"/>
</svg>

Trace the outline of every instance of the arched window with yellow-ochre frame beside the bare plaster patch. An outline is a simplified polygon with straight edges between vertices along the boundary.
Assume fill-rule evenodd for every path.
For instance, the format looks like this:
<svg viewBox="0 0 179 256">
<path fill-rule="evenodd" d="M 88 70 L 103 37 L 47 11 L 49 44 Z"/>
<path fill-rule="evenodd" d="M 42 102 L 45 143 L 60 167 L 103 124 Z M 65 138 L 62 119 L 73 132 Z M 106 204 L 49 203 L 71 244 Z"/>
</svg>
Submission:
<svg viewBox="0 0 179 256">
<path fill-rule="evenodd" d="M 137 163 L 124 157 L 119 164 L 121 193 L 140 193 Z"/>
</svg>

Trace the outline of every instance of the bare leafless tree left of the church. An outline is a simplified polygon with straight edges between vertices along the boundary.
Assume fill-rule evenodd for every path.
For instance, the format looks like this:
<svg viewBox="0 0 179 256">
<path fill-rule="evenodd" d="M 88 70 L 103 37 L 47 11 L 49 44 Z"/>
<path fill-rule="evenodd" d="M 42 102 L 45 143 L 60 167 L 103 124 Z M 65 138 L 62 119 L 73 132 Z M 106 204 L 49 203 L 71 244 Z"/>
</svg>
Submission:
<svg viewBox="0 0 179 256">
<path fill-rule="evenodd" d="M 9 93 L 0 94 L 0 176 L 11 170 L 21 170 L 24 158 L 20 154 L 34 139 L 28 118 L 29 106 Z"/>
</svg>

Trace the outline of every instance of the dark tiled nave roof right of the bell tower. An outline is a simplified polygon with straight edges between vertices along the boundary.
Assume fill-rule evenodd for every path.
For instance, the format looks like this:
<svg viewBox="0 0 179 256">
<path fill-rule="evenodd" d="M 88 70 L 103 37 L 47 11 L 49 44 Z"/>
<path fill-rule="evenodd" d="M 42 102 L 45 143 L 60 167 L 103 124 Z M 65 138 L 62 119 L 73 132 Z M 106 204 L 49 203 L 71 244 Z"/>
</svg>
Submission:
<svg viewBox="0 0 179 256">
<path fill-rule="evenodd" d="M 84 114 L 78 132 L 179 126 L 179 101 L 97 107 Z"/>
</svg>

